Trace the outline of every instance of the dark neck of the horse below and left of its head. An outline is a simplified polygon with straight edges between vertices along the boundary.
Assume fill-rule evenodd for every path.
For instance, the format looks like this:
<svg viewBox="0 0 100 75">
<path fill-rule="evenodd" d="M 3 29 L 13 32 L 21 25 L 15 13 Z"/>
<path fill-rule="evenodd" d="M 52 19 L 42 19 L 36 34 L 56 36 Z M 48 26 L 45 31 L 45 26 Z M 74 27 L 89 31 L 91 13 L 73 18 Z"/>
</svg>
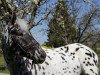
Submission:
<svg viewBox="0 0 100 75">
<path fill-rule="evenodd" d="M 11 75 L 31 75 L 25 66 L 23 57 L 14 52 L 18 48 L 16 48 L 14 43 L 11 41 L 7 26 L 4 28 L 2 33 L 2 49 L 4 59 Z"/>
</svg>

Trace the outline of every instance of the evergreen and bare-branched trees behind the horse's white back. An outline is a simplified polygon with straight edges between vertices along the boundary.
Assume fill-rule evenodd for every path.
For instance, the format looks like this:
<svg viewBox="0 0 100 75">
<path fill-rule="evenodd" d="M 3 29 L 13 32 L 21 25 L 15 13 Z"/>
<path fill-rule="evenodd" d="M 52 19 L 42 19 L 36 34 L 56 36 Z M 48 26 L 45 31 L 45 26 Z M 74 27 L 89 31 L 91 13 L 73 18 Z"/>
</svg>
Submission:
<svg viewBox="0 0 100 75">
<path fill-rule="evenodd" d="M 82 13 L 82 6 L 77 1 L 58 0 L 52 19 L 48 26 L 48 42 L 46 45 L 59 47 L 70 43 L 83 43 L 96 49 L 100 47 L 100 10 L 91 6 L 90 10 Z M 81 11 L 81 12 L 80 12 Z"/>
</svg>

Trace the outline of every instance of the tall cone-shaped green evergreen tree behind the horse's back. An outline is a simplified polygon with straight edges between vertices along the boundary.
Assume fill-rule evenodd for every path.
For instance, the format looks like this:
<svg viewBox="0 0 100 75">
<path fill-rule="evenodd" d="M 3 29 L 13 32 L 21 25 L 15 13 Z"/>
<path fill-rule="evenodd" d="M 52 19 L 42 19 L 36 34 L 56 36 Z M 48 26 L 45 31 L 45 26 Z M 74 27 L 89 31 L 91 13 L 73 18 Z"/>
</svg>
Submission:
<svg viewBox="0 0 100 75">
<path fill-rule="evenodd" d="M 74 42 L 76 28 L 65 0 L 59 0 L 49 22 L 47 46 L 59 47 Z"/>
</svg>

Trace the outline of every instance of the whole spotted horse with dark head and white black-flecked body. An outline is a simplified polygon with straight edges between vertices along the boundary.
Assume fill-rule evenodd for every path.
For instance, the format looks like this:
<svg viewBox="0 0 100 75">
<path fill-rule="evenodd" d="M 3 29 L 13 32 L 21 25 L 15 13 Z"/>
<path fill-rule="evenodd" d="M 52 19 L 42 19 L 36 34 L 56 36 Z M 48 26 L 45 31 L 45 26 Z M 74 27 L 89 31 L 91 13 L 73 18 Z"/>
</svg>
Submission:
<svg viewBox="0 0 100 75">
<path fill-rule="evenodd" d="M 24 19 L 4 26 L 2 49 L 10 75 L 98 75 L 98 56 L 93 50 L 79 43 L 41 48 Z"/>
</svg>

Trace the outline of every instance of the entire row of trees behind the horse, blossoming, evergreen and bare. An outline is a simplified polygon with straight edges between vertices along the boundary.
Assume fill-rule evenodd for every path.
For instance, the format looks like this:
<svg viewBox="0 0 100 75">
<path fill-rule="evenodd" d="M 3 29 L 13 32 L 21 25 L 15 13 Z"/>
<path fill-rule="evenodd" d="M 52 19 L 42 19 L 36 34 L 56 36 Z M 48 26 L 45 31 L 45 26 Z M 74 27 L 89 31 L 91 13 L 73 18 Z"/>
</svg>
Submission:
<svg viewBox="0 0 100 75">
<path fill-rule="evenodd" d="M 3 21 L 8 21 L 6 9 L 10 6 L 12 10 L 16 8 L 17 16 L 26 19 L 31 27 L 47 22 L 48 42 L 45 43 L 47 46 L 59 47 L 75 42 L 92 48 L 100 46 L 100 26 L 98 26 L 100 25 L 100 7 L 97 2 L 57 0 L 50 5 L 50 1 L 0 0 L 0 26 Z M 46 5 L 48 7 L 45 7 Z M 83 11 L 84 5 L 89 6 L 89 10 Z M 37 17 L 39 17 L 38 20 L 36 20 Z"/>
</svg>

